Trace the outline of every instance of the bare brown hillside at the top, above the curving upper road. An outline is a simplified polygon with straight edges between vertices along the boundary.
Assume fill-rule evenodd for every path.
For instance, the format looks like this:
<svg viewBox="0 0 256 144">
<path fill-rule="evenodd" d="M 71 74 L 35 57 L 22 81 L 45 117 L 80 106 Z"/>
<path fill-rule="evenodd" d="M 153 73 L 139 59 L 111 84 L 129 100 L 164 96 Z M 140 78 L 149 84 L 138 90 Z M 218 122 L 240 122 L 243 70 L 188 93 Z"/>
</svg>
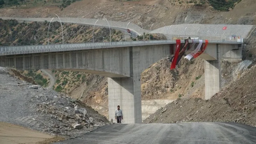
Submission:
<svg viewBox="0 0 256 144">
<path fill-rule="evenodd" d="M 48 0 L 51 2 L 51 0 Z M 0 16 L 14 17 L 82 17 L 133 22 L 144 29 L 163 27 L 164 24 L 207 23 L 207 24 L 251 24 L 256 22 L 255 1 L 242 0 L 82 0 L 59 6 L 33 6 L 30 8 L 1 8 Z M 195 4 L 194 2 L 197 3 Z M 181 3 L 180 3 L 181 2 Z M 187 3 L 188 2 L 188 3 Z M 232 4 L 234 3 L 234 4 Z M 214 8 L 215 7 L 215 8 Z M 228 12 L 216 9 L 226 10 Z M 114 10 L 110 10 L 114 9 Z M 139 22 L 139 21 L 141 22 Z M 162 23 L 164 22 L 164 23 Z"/>
</svg>

